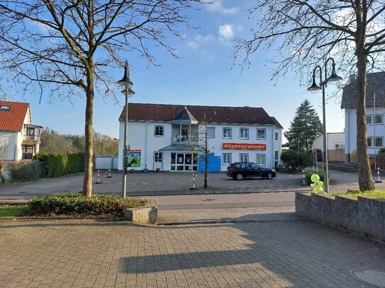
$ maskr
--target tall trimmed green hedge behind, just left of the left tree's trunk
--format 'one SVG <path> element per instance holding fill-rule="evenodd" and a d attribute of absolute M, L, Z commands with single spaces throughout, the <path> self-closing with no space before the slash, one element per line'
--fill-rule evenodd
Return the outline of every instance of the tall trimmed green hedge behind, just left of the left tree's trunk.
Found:
<path fill-rule="evenodd" d="M 84 171 L 84 153 L 38 153 L 35 159 L 45 161 L 46 177 L 53 178 Z"/>

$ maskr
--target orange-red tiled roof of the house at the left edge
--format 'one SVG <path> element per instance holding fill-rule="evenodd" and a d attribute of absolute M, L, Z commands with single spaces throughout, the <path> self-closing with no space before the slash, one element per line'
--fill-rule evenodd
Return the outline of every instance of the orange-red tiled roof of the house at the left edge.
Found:
<path fill-rule="evenodd" d="M 21 131 L 29 104 L 0 101 L 1 106 L 9 106 L 10 110 L 0 110 L 0 131 Z"/>

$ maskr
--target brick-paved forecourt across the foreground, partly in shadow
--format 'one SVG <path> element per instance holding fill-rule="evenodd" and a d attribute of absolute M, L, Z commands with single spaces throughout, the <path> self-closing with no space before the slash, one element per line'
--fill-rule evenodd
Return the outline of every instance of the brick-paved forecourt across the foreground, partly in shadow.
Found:
<path fill-rule="evenodd" d="M 0 243 L 9 288 L 369 288 L 350 272 L 385 269 L 385 246 L 279 211 L 178 226 L 3 220 Z"/>

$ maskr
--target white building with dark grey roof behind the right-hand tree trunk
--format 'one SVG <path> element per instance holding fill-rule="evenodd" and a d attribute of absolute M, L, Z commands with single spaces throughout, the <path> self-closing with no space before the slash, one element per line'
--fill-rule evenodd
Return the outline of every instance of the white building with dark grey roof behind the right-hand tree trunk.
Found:
<path fill-rule="evenodd" d="M 344 87 L 341 108 L 345 109 L 345 162 L 352 162 L 357 150 L 357 92 L 355 77 Z M 384 147 L 385 72 L 367 74 L 367 144 L 373 158 Z"/>

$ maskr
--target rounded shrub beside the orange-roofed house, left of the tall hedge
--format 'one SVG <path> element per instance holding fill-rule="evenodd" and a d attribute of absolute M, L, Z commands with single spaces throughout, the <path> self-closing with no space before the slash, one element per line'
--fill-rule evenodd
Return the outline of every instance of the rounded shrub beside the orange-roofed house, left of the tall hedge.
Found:
<path fill-rule="evenodd" d="M 21 160 L 8 164 L 11 181 L 33 181 L 44 177 L 44 167 L 38 161 Z"/>

